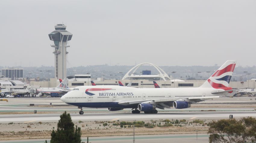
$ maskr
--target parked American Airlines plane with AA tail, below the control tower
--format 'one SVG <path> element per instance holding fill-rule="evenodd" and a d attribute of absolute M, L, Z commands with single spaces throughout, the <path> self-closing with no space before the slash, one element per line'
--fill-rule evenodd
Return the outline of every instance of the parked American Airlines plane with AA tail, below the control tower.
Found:
<path fill-rule="evenodd" d="M 68 78 L 65 78 L 57 87 L 55 88 L 40 88 L 36 89 L 36 93 L 63 93 L 63 92 L 68 92 L 67 90 L 67 80 Z"/>

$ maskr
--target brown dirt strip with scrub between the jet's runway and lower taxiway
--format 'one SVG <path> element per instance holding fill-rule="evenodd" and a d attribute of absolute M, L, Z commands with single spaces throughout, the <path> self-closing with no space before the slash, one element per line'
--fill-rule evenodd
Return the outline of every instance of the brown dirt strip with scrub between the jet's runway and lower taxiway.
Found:
<path fill-rule="evenodd" d="M 201 120 L 201 123 L 192 123 L 193 120 L 186 120 L 186 122 L 183 123 L 172 124 L 172 127 L 164 127 L 164 124 L 167 122 L 160 120 L 145 121 L 145 123 L 154 124 L 155 127 L 135 127 L 135 135 L 186 134 L 196 133 L 196 130 L 198 130 L 198 133 L 207 133 L 207 124 L 209 121 L 210 120 Z M 81 127 L 82 137 L 133 135 L 133 125 L 131 125 L 131 127 L 125 125 L 126 127 L 122 128 L 120 125 L 114 125 L 120 124 L 120 122 L 121 121 L 80 121 L 74 122 L 74 124 Z M 171 122 L 172 120 L 168 123 Z M 104 123 L 107 123 L 107 125 L 103 126 Z M 161 124 L 161 127 L 159 124 Z M 57 130 L 57 122 L 0 124 L 0 129 L 0 140 L 45 139 L 51 138 L 52 130 Z"/>

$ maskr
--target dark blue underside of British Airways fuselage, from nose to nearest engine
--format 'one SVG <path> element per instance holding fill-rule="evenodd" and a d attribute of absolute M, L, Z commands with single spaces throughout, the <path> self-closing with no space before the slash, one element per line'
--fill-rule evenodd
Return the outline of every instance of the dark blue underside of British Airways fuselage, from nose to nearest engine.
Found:
<path fill-rule="evenodd" d="M 138 108 L 138 104 L 119 105 L 118 102 L 86 102 L 86 103 L 67 103 L 73 106 L 89 108 Z"/>

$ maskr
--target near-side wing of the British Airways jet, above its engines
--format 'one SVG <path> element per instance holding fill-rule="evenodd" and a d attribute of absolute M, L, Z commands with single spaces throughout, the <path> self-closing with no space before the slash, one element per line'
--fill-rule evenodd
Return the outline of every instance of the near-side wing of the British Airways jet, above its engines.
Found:
<path fill-rule="evenodd" d="M 164 109 L 170 108 L 174 101 L 186 101 L 189 103 L 197 103 L 205 101 L 212 98 L 219 98 L 220 96 L 208 96 L 208 97 L 187 97 L 187 98 L 163 98 L 163 99 L 152 99 L 152 100 L 139 100 L 139 101 L 120 101 L 120 105 L 130 105 L 130 104 L 154 104 L 157 108 Z"/>

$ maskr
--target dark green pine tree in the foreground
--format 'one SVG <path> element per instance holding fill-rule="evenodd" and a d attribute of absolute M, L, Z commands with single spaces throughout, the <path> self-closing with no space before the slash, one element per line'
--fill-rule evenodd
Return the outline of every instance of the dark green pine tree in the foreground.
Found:
<path fill-rule="evenodd" d="M 76 126 L 71 120 L 70 114 L 65 111 L 61 116 L 57 125 L 57 131 L 52 130 L 51 143 L 80 143 L 81 128 Z"/>

